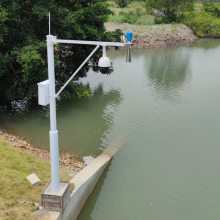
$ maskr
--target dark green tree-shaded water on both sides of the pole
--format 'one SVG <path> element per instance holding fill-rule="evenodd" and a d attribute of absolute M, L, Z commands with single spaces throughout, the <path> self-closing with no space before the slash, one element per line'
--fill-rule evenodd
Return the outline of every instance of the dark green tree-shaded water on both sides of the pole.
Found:
<path fill-rule="evenodd" d="M 84 99 L 68 99 L 58 103 L 57 119 L 61 150 L 78 155 L 98 154 L 101 138 L 111 127 L 109 106 L 117 106 L 119 91 L 104 92 L 102 85 L 94 89 L 93 95 Z M 19 136 L 25 136 L 39 147 L 48 147 L 48 109 L 32 110 L 28 113 L 0 113 L 0 126 Z"/>

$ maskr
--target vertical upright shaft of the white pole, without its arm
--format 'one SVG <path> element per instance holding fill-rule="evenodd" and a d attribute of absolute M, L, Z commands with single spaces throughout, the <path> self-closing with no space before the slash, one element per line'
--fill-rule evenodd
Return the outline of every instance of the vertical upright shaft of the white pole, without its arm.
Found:
<path fill-rule="evenodd" d="M 54 70 L 54 39 L 53 35 L 47 35 L 47 58 L 50 96 L 50 162 L 51 162 L 51 187 L 52 192 L 60 190 L 59 174 L 59 146 L 56 119 L 56 92 L 55 92 L 55 70 Z"/>

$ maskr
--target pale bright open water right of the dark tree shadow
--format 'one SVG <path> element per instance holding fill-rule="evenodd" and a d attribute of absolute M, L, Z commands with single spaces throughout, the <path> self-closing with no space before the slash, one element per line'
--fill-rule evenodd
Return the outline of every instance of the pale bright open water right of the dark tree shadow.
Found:
<path fill-rule="evenodd" d="M 104 87 L 121 88 L 124 143 L 80 220 L 219 219 L 219 49 L 133 51 L 132 65 L 115 55 Z"/>

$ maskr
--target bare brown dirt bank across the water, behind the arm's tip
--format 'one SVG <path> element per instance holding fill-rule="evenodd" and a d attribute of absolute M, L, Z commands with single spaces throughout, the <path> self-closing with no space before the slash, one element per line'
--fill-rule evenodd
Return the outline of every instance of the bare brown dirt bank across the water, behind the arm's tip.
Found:
<path fill-rule="evenodd" d="M 162 24 L 162 25 L 133 25 L 106 23 L 107 31 L 116 29 L 124 33 L 134 33 L 134 48 L 161 48 L 184 45 L 193 42 L 197 37 L 192 30 L 184 24 Z"/>

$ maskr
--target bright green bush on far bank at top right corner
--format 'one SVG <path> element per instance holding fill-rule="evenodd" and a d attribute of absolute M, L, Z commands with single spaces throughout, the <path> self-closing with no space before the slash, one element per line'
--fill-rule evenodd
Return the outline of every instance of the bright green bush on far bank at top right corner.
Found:
<path fill-rule="evenodd" d="M 184 13 L 179 21 L 188 25 L 198 37 L 220 37 L 220 4 L 206 3 L 201 11 Z"/>

